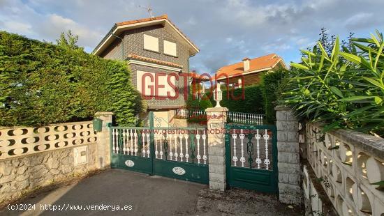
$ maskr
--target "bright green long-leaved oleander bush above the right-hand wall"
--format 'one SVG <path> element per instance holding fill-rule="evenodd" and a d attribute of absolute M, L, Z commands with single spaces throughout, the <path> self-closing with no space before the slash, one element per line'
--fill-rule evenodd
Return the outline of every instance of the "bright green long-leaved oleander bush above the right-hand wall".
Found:
<path fill-rule="evenodd" d="M 384 135 L 383 34 L 351 39 L 352 48 L 336 38 L 331 54 L 318 43 L 291 63 L 283 104 L 298 116 L 327 123 L 325 131 L 348 128 Z"/>

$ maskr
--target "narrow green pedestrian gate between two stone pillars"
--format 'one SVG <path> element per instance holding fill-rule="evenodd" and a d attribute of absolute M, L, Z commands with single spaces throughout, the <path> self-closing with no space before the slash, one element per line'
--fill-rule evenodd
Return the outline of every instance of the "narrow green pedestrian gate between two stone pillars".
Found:
<path fill-rule="evenodd" d="M 230 187 L 277 193 L 276 126 L 227 124 L 226 173 Z"/>

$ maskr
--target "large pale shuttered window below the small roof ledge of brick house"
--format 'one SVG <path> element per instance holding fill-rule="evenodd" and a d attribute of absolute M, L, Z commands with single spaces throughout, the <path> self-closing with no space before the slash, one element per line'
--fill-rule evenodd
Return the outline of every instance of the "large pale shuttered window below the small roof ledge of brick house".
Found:
<path fill-rule="evenodd" d="M 142 80 L 144 75 L 144 80 Z M 170 97 L 175 97 L 175 89 L 172 88 L 170 84 L 168 84 L 168 77 L 170 77 L 170 83 L 176 86 L 175 76 L 166 75 L 165 73 L 154 73 L 137 70 L 136 86 L 138 91 L 140 91 L 140 93 L 145 96 L 167 97 L 167 94 L 169 93 Z"/>

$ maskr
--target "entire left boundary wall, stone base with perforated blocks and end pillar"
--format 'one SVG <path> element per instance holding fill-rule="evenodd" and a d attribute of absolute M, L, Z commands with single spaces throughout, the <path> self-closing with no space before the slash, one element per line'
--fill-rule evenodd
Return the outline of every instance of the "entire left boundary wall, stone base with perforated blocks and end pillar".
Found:
<path fill-rule="evenodd" d="M 91 121 L 42 128 L 0 129 L 0 206 L 40 187 L 82 178 L 110 167 L 112 113 L 101 112 L 102 131 Z"/>

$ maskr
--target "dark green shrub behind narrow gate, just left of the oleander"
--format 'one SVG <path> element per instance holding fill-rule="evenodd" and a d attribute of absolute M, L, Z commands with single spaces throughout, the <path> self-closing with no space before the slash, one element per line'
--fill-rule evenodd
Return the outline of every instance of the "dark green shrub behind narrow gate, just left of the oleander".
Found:
<path fill-rule="evenodd" d="M 281 95 L 281 89 L 283 79 L 288 74 L 288 70 L 279 68 L 277 70 L 270 70 L 263 75 L 263 94 L 265 98 L 265 118 L 268 123 L 274 123 L 276 121 L 276 102 L 279 100 Z"/>

